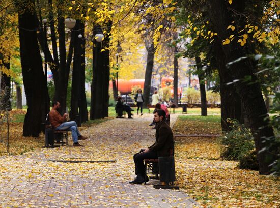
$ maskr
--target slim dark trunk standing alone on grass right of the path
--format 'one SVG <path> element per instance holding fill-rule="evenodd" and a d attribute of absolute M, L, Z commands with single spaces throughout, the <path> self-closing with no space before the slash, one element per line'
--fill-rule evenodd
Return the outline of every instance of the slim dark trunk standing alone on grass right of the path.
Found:
<path fill-rule="evenodd" d="M 207 116 L 207 100 L 206 100 L 206 90 L 204 83 L 204 72 L 202 70 L 202 63 L 200 57 L 195 57 L 195 63 L 197 64 L 197 69 L 199 73 L 199 83 L 200 83 L 200 103 L 201 103 L 201 115 Z"/>

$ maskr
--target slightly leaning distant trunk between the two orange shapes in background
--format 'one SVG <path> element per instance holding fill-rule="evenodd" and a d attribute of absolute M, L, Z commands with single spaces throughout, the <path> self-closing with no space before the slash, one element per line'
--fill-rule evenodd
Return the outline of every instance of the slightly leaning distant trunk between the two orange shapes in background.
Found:
<path fill-rule="evenodd" d="M 145 71 L 145 81 L 144 81 L 144 104 L 143 107 L 147 108 L 150 100 L 150 91 L 151 91 L 151 80 L 152 80 L 152 73 L 153 73 L 153 66 L 154 66 L 154 56 L 155 56 L 155 47 L 153 41 L 149 44 L 148 41 L 145 43 L 147 54 L 147 65 Z"/>

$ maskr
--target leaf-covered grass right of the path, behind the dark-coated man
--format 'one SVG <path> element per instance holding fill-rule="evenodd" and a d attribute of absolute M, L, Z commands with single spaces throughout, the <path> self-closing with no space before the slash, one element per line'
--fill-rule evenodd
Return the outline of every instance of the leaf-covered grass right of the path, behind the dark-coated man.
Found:
<path fill-rule="evenodd" d="M 181 116 L 177 134 L 220 134 L 219 116 Z M 217 138 L 176 140 L 176 175 L 180 186 L 203 207 L 280 207 L 280 181 L 222 161 Z"/>

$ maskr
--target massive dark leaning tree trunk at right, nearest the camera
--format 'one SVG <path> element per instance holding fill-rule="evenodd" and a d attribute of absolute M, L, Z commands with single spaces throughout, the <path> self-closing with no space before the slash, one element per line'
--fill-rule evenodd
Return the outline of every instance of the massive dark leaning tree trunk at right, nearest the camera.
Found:
<path fill-rule="evenodd" d="M 241 0 L 233 1 L 231 5 L 223 0 L 208 1 L 210 20 L 213 23 L 213 31 L 218 34 L 218 41 L 220 44 L 222 44 L 222 40 L 225 40 L 230 36 L 227 27 L 231 25 L 233 21 L 238 23 L 238 25 L 235 24 L 238 31 L 244 29 L 246 24 L 244 17 L 241 15 L 237 16 L 232 11 L 234 10 L 242 14 L 245 9 L 245 4 L 246 2 Z M 237 43 L 237 39 L 234 39 L 228 45 L 222 46 L 222 51 L 225 53 L 226 63 L 235 61 L 240 57 L 246 56 L 246 54 L 254 54 L 254 51 L 246 51 L 246 49 L 246 46 L 241 47 L 240 44 Z M 235 83 L 236 90 L 239 93 L 242 105 L 248 114 L 250 129 L 254 136 L 255 146 L 258 153 L 259 173 L 269 174 L 269 165 L 274 160 L 274 155 L 266 150 L 265 138 L 274 137 L 274 132 L 272 127 L 269 126 L 269 116 L 267 114 L 260 85 L 254 74 L 254 67 L 256 66 L 253 66 L 250 61 L 241 60 L 230 65 L 229 71 L 232 80 L 239 80 Z M 251 77 L 250 83 L 244 81 L 247 76 Z M 276 148 L 277 147 L 275 147 L 275 150 Z M 271 151 L 274 151 L 273 148 Z"/>

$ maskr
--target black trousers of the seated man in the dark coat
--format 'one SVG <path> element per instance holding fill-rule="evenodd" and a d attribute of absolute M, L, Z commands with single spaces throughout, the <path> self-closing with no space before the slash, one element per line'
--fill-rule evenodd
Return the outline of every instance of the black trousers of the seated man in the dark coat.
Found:
<path fill-rule="evenodd" d="M 145 175 L 145 165 L 144 165 L 144 160 L 145 159 L 157 159 L 157 153 L 153 151 L 148 151 L 143 153 L 140 151 L 140 153 L 136 153 L 133 156 L 133 160 L 135 163 L 135 174 L 141 174 L 143 177 Z"/>

